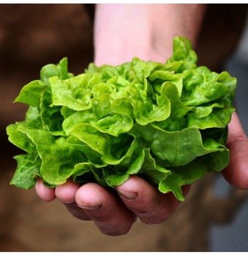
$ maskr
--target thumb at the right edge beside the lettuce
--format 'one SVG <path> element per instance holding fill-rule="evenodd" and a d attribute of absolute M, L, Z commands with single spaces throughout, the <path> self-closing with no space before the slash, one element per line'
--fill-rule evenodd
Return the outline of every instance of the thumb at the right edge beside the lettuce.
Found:
<path fill-rule="evenodd" d="M 230 150 L 230 161 L 223 175 L 237 188 L 248 189 L 248 138 L 237 113 L 233 114 L 229 124 L 227 147 Z"/>

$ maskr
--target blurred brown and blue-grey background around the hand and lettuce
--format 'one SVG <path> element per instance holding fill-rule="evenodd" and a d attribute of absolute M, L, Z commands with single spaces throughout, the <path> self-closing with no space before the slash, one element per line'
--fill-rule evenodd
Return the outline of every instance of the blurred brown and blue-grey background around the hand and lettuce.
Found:
<path fill-rule="evenodd" d="M 139 221 L 121 237 L 102 235 L 57 200 L 8 185 L 20 152 L 6 137 L 26 106 L 12 104 L 42 66 L 68 57 L 82 73 L 93 61 L 93 4 L 0 4 L 0 252 L 245 252 L 248 199 L 219 174 L 196 182 L 172 217 L 159 225 Z M 237 77 L 236 106 L 248 132 L 247 4 L 209 4 L 196 48 L 199 65 Z"/>

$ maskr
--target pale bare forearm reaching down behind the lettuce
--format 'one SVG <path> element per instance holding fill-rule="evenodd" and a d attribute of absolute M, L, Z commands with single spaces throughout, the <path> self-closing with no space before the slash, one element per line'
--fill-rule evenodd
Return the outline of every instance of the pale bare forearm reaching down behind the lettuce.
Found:
<path fill-rule="evenodd" d="M 204 4 L 98 4 L 95 63 L 117 65 L 134 56 L 164 62 L 173 37 L 196 42 L 204 9 Z"/>

